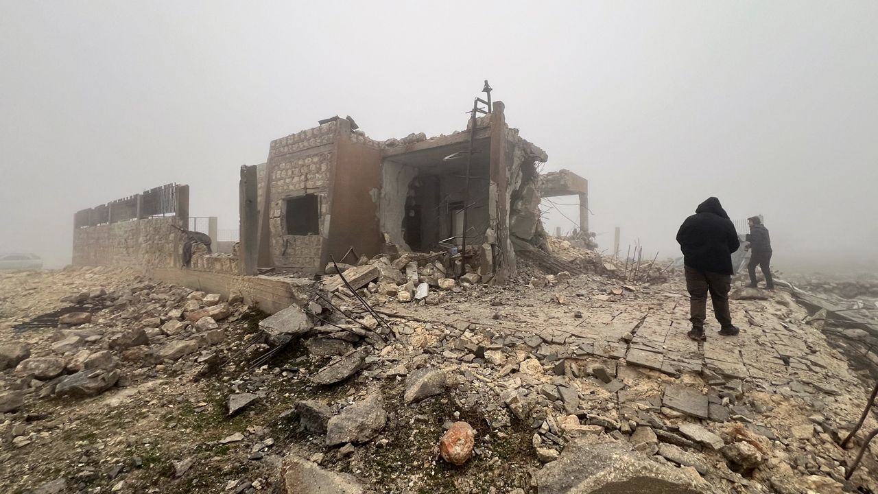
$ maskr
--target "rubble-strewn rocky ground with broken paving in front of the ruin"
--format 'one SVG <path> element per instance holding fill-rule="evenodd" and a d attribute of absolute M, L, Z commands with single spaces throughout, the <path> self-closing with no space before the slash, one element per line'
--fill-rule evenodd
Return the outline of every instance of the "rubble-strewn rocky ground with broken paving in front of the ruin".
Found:
<path fill-rule="evenodd" d="M 0 275 L 4 491 L 878 490 L 878 445 L 845 481 L 874 414 L 838 446 L 869 369 L 787 292 L 738 288 L 740 335 L 697 344 L 673 276 L 357 267 L 374 314 L 331 277 L 267 317 L 119 269 Z"/>

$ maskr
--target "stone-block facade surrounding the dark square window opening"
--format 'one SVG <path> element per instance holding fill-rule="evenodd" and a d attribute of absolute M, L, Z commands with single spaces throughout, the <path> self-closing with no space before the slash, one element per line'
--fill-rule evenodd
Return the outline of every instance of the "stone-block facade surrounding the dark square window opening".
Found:
<path fill-rule="evenodd" d="M 271 142 L 269 228 L 275 265 L 318 272 L 328 235 L 329 182 L 335 165 L 335 121 Z M 286 234 L 284 200 L 316 194 L 320 200 L 320 235 Z"/>

